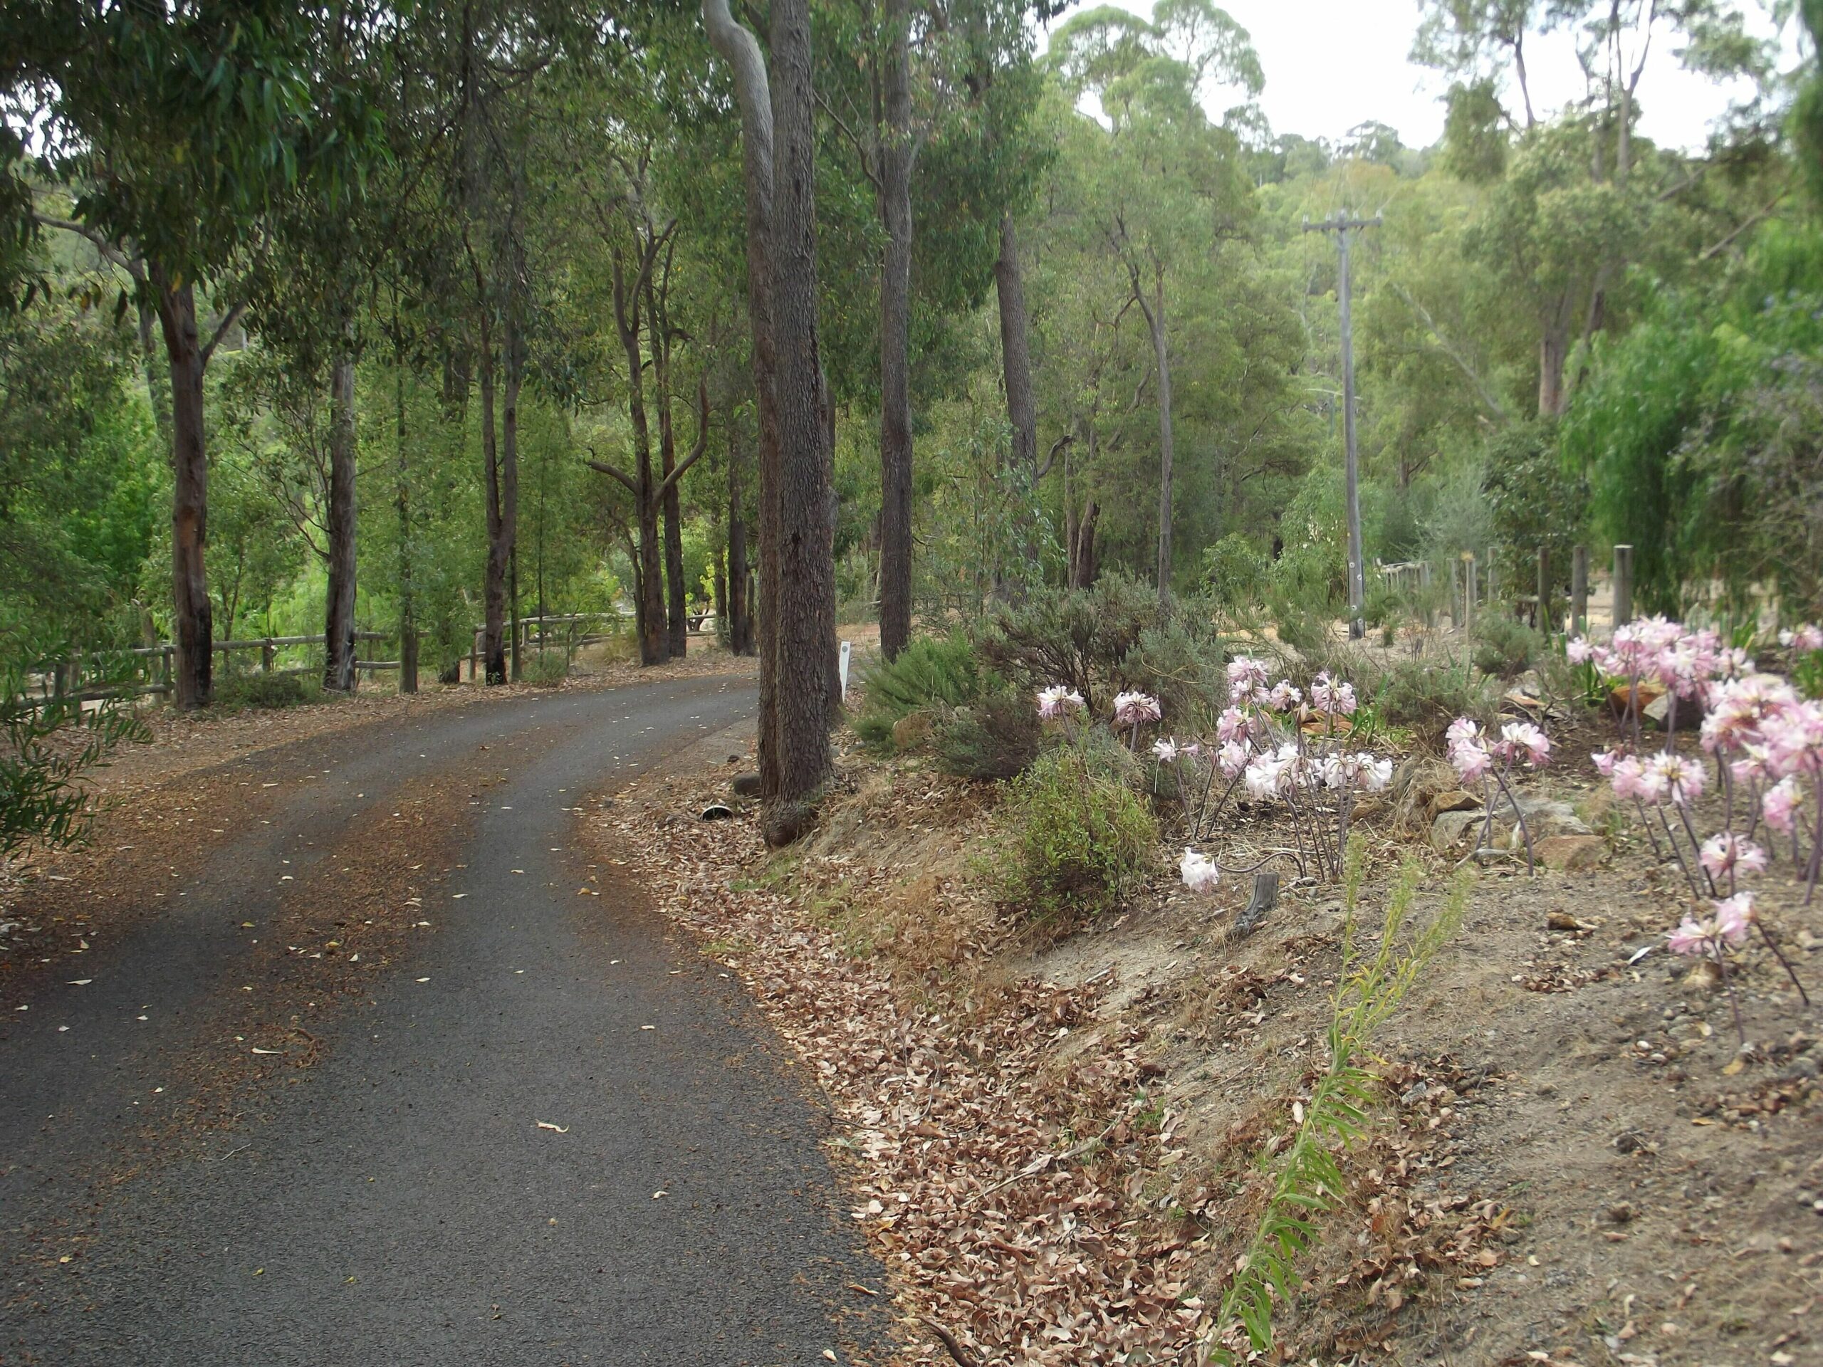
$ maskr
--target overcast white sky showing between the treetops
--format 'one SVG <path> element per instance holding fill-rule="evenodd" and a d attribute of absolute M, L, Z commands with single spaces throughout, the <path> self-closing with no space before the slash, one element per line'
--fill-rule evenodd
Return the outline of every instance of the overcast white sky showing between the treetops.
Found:
<path fill-rule="evenodd" d="M 1072 7 L 1092 7 L 1087 0 Z M 1150 15 L 1150 0 L 1114 0 Z M 1438 97 L 1449 82 L 1438 71 L 1407 60 L 1418 27 L 1416 0 L 1218 0 L 1245 27 L 1265 67 L 1260 104 L 1274 133 L 1340 139 L 1360 122 L 1376 118 L 1398 129 L 1407 148 L 1426 148 L 1444 131 Z M 1772 26 L 1757 4 L 1748 5 L 1757 33 Z M 1068 15 L 1066 15 L 1068 16 Z M 1065 16 L 1065 18 L 1066 18 Z M 1056 20 L 1061 24 L 1063 20 Z M 1570 35 L 1528 40 L 1526 69 L 1531 98 L 1542 117 L 1582 95 Z M 1730 91 L 1694 77 L 1677 64 L 1674 44 L 1661 31 L 1641 82 L 1641 129 L 1661 146 L 1701 148 L 1708 126 L 1726 111 Z M 1220 109 L 1212 111 L 1220 117 Z"/>

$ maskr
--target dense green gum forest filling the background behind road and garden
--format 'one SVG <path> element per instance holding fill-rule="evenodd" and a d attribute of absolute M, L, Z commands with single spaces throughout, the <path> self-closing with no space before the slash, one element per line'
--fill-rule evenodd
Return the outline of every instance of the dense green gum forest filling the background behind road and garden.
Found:
<path fill-rule="evenodd" d="M 835 611 L 888 649 L 1101 567 L 1327 614 L 1336 253 L 1302 226 L 1336 210 L 1378 217 L 1369 560 L 1613 540 L 1653 607 L 1816 601 L 1816 98 L 1735 7 L 1433 0 L 1431 148 L 1274 133 L 1200 0 L 809 24 Z M 1586 100 L 1531 106 L 1544 29 Z M 767 443 L 700 15 L 16 4 L 7 35 L 9 660 L 175 640 L 195 705 L 211 636 L 326 631 L 330 687 L 354 625 L 443 673 L 485 625 L 494 676 L 541 612 L 633 607 L 658 660 L 713 605 L 746 645 Z M 1706 149 L 1637 131 L 1650 44 L 1756 82 Z"/>

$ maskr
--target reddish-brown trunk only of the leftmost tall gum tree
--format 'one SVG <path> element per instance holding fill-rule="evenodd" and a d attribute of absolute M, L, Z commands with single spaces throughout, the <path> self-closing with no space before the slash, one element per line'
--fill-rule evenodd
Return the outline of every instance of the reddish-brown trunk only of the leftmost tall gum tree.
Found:
<path fill-rule="evenodd" d="M 151 268 L 159 328 L 171 368 L 171 616 L 177 636 L 171 700 L 208 707 L 213 682 L 213 607 L 202 549 L 208 543 L 210 463 L 202 439 L 202 343 L 197 295 Z"/>

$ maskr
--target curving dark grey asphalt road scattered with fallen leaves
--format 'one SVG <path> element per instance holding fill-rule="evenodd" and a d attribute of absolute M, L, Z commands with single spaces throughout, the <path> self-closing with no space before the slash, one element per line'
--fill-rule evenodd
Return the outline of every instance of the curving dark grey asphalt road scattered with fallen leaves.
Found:
<path fill-rule="evenodd" d="M 0 1362 L 866 1360 L 853 1285 L 881 1290 L 881 1269 L 840 1216 L 826 1121 L 716 964 L 613 884 L 576 895 L 578 795 L 751 707 L 746 680 L 678 680 L 252 760 L 297 789 L 270 826 L 180 871 L 182 899 L 86 955 L 89 982 L 60 964 L 29 1012 L 7 1002 Z M 253 1119 L 144 1152 L 153 1086 L 210 1046 L 213 1004 L 252 971 L 281 860 L 308 880 L 355 813 L 459 780 L 481 747 L 505 782 L 478 789 L 467 848 L 425 891 L 436 931 Z"/>

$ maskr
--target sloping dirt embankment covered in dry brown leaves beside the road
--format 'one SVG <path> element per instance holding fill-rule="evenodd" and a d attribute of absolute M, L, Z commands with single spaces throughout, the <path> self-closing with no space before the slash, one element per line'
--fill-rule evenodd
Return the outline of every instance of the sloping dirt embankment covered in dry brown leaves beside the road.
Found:
<path fill-rule="evenodd" d="M 1293 886 L 1231 944 L 1243 888 L 1159 879 L 1045 940 L 981 893 L 992 789 L 850 756 L 820 833 L 767 855 L 747 815 L 696 818 L 731 773 L 642 780 L 598 837 L 636 851 L 848 1126 L 904 1362 L 1198 1362 L 1327 1063 L 1338 891 Z M 1548 795 L 1601 806 L 1573 775 Z M 1400 860 L 1424 869 L 1418 917 L 1453 860 L 1391 809 L 1365 829 L 1371 940 Z M 1819 1360 L 1818 1013 L 1750 948 L 1737 1057 L 1726 995 L 1664 953 L 1672 875 L 1604 829 L 1595 868 L 1486 869 L 1382 1030 L 1369 1137 L 1276 1309 L 1283 1358 Z M 1781 879 L 1763 908 L 1823 999 L 1823 906 Z"/>

